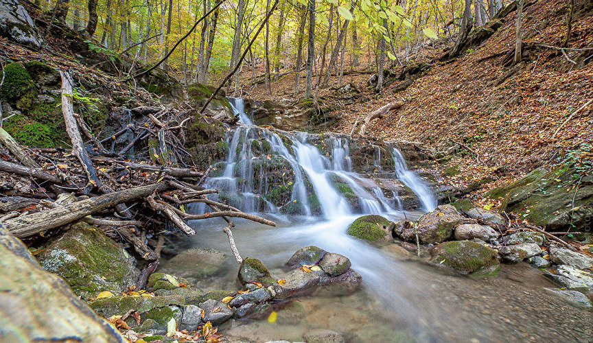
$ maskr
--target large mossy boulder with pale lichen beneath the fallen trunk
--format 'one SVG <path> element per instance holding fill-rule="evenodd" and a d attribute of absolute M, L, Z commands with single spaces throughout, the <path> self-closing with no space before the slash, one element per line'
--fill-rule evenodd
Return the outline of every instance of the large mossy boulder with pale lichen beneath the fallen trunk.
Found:
<path fill-rule="evenodd" d="M 75 224 L 39 255 L 41 267 L 62 276 L 83 299 L 135 285 L 135 259 L 100 228 Z"/>

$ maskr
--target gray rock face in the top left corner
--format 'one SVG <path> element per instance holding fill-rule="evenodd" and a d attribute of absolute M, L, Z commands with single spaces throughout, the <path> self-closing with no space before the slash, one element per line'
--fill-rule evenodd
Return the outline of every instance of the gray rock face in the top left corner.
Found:
<path fill-rule="evenodd" d="M 41 47 L 35 23 L 27 10 L 16 0 L 0 1 L 0 36 L 33 49 Z"/>

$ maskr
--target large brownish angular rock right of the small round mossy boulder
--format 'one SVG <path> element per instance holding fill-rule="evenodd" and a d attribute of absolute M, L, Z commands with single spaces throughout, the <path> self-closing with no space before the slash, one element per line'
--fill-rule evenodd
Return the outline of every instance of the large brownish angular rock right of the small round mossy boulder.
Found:
<path fill-rule="evenodd" d="M 437 244 L 449 239 L 454 228 L 461 224 L 463 224 L 463 218 L 454 206 L 441 205 L 420 217 L 415 226 L 404 228 L 401 236 L 406 241 L 415 242 L 417 232 L 420 243 Z"/>

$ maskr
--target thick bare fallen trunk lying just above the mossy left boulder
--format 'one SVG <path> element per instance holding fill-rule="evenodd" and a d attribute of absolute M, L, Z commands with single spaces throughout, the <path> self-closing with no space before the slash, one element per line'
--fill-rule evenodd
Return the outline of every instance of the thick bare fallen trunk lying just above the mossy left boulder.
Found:
<path fill-rule="evenodd" d="M 66 206 L 60 206 L 56 209 L 22 215 L 21 217 L 7 220 L 4 222 L 4 227 L 10 230 L 10 233 L 15 237 L 30 237 L 41 231 L 70 224 L 71 222 L 81 220 L 87 215 L 92 215 L 126 201 L 144 198 L 154 191 L 162 191 L 164 189 L 167 189 L 167 185 L 157 183 L 116 191 L 103 196 L 74 202 Z"/>

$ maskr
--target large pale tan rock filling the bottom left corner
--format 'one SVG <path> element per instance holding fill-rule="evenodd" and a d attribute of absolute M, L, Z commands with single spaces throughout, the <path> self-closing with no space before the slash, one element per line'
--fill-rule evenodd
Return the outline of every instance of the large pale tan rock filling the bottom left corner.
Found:
<path fill-rule="evenodd" d="M 0 270 L 2 342 L 126 342 L 2 226 Z"/>

